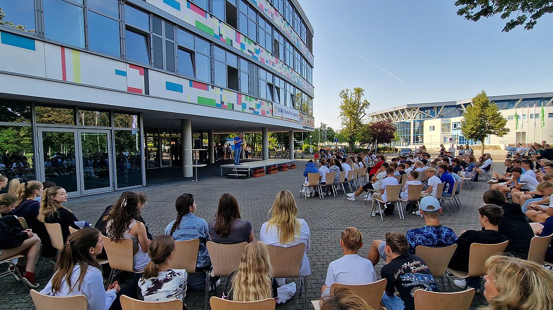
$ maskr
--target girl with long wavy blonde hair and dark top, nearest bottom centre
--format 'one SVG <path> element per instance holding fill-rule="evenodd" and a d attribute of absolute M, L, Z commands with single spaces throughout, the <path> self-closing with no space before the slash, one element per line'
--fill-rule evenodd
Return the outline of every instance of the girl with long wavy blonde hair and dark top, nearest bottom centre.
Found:
<path fill-rule="evenodd" d="M 227 278 L 223 298 L 234 301 L 277 298 L 278 283 L 271 273 L 267 246 L 261 241 L 249 243 L 242 253 L 238 270 Z"/>

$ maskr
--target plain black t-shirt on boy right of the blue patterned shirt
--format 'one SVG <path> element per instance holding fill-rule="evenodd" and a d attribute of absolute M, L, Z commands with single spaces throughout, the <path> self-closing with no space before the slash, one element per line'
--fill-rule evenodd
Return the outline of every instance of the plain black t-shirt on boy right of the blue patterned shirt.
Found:
<path fill-rule="evenodd" d="M 468 271 L 468 257 L 471 251 L 471 244 L 496 244 L 507 240 L 509 239 L 497 230 L 467 230 L 455 241 L 457 250 L 447 266 L 455 270 Z"/>

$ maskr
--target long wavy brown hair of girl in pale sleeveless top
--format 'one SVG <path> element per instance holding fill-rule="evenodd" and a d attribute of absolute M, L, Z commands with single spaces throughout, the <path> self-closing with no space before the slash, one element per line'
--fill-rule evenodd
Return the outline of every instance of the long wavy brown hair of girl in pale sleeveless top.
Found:
<path fill-rule="evenodd" d="M 123 236 L 129 229 L 132 220 L 140 218 L 138 208 L 138 194 L 135 192 L 123 192 L 117 202 L 113 204 L 109 214 L 103 218 L 106 222 L 106 234 L 112 241 L 118 242 L 125 239 Z"/>

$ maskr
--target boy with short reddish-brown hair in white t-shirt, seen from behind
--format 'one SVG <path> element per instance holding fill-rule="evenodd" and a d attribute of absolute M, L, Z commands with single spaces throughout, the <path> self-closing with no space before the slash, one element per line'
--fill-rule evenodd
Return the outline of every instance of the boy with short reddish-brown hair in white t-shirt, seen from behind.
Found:
<path fill-rule="evenodd" d="M 325 285 L 321 288 L 321 297 L 330 295 L 332 283 L 358 285 L 377 281 L 373 263 L 357 255 L 363 246 L 363 235 L 359 229 L 348 227 L 343 230 L 340 246 L 344 256 L 328 265 Z"/>

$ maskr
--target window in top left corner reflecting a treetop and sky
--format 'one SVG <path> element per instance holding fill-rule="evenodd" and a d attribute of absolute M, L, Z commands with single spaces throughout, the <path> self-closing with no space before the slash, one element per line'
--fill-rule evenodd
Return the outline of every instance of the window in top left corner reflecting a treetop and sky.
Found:
<path fill-rule="evenodd" d="M 2 1 L 3 25 L 36 33 L 34 0 Z"/>

